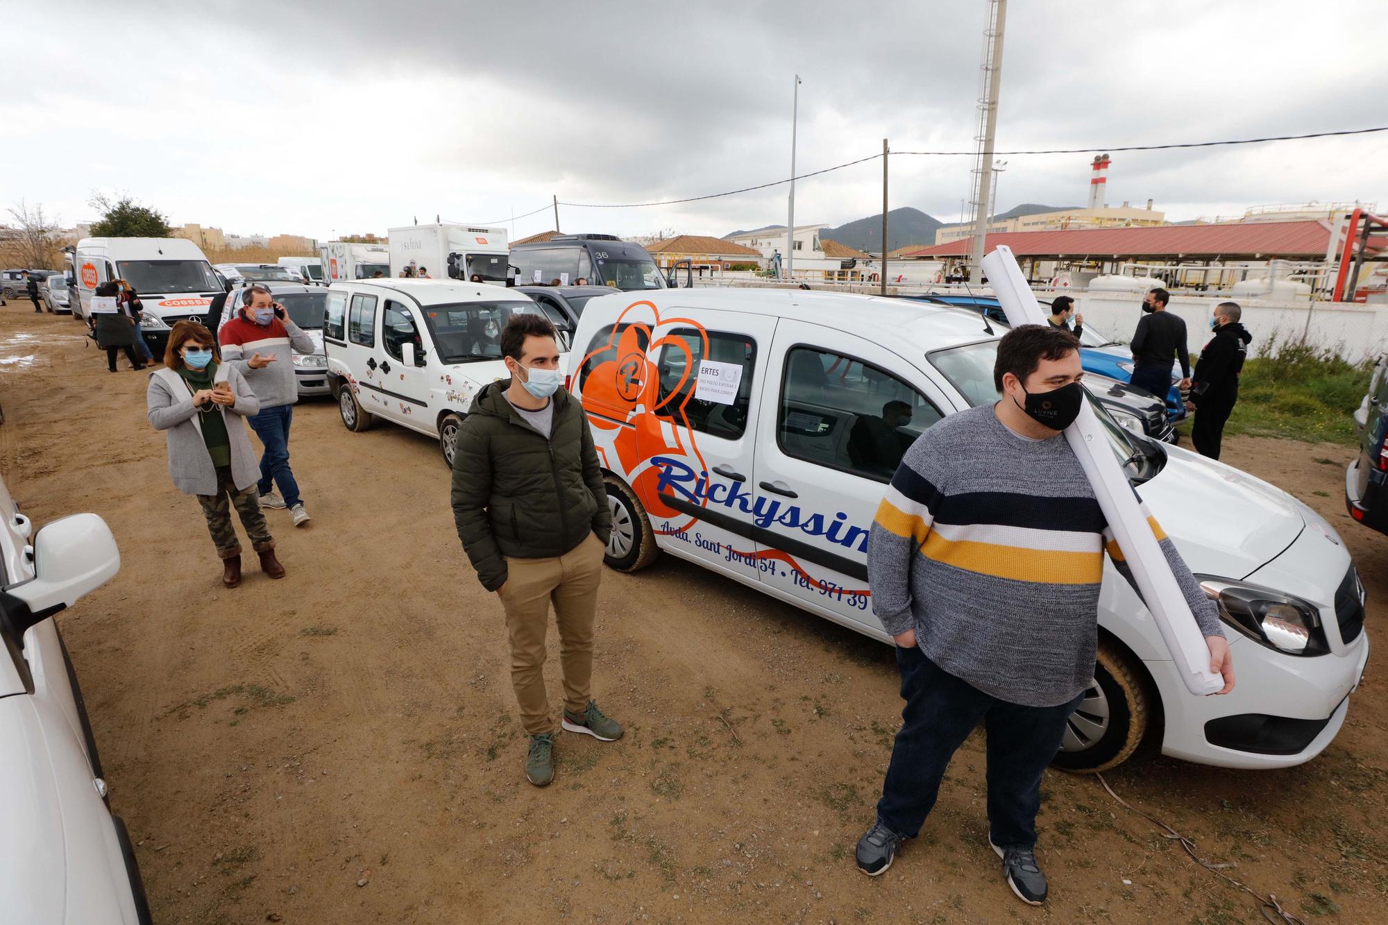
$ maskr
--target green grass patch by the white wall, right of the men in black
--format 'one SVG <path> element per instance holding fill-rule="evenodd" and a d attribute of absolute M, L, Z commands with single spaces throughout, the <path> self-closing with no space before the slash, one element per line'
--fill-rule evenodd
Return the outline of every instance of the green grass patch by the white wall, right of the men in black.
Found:
<path fill-rule="evenodd" d="M 1238 404 L 1224 433 L 1353 446 L 1359 440 L 1353 412 L 1369 390 L 1371 369 L 1371 361 L 1355 365 L 1332 350 L 1273 338 L 1244 364 Z"/>

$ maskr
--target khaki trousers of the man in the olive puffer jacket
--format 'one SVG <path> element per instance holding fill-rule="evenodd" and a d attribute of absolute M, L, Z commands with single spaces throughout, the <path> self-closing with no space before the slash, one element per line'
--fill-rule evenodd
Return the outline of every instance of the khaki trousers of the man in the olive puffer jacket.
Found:
<path fill-rule="evenodd" d="M 583 712 L 591 700 L 593 621 L 604 550 L 602 540 L 590 533 L 558 558 L 507 557 L 501 604 L 511 638 L 511 686 L 520 704 L 520 725 L 532 736 L 555 728 L 544 690 L 544 636 L 551 603 L 559 628 L 564 706 L 570 712 Z"/>

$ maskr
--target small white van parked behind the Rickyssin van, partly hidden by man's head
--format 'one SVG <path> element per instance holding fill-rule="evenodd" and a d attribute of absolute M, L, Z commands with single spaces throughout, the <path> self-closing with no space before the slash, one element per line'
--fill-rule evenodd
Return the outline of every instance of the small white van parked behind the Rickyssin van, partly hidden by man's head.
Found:
<path fill-rule="evenodd" d="M 323 349 L 343 424 L 359 432 L 379 417 L 437 436 L 451 467 L 473 396 L 509 375 L 501 329 L 514 314 L 550 317 L 522 293 L 479 283 L 333 283 Z"/>

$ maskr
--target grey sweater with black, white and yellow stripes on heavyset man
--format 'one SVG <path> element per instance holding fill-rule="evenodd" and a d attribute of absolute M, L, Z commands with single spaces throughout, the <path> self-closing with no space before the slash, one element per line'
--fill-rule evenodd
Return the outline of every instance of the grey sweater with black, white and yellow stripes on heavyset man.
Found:
<path fill-rule="evenodd" d="M 1202 632 L 1221 635 L 1213 601 L 1144 512 Z M 867 546 L 873 611 L 984 693 L 1058 706 L 1094 676 L 1105 550 L 1131 581 L 1065 436 L 1033 440 L 992 406 L 969 408 L 927 429 L 891 479 Z"/>

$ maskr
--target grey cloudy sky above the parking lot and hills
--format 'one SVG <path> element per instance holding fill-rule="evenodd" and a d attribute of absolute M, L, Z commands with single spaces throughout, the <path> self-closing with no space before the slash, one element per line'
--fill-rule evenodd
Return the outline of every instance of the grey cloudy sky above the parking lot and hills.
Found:
<path fill-rule="evenodd" d="M 644 203 L 881 150 L 972 150 L 985 4 L 278 0 L 6 4 L 0 207 L 71 225 L 93 192 L 174 224 L 330 238 L 415 217 L 494 222 Z M 1013 0 L 998 149 L 1388 125 L 1385 4 Z M 1083 204 L 1087 154 L 1013 156 L 1001 208 Z M 1388 207 L 1388 133 L 1122 153 L 1110 204 L 1169 219 L 1249 206 Z M 969 157 L 891 161 L 891 206 L 958 218 Z M 881 162 L 797 183 L 797 224 L 881 203 Z M 565 231 L 725 235 L 786 221 L 786 188 L 683 206 L 561 206 Z M 516 218 L 516 236 L 552 228 Z"/>

